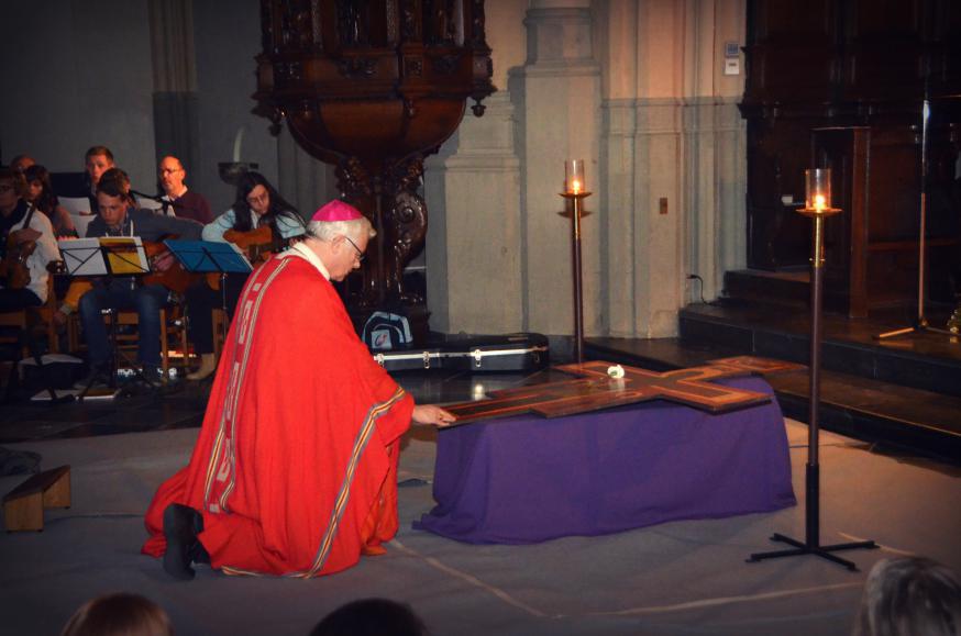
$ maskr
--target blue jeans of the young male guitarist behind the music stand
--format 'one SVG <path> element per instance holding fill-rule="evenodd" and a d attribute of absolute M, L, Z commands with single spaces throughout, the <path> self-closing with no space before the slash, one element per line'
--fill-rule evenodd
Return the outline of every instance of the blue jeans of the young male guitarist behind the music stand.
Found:
<path fill-rule="evenodd" d="M 97 284 L 80 299 L 80 322 L 90 350 L 90 365 L 102 367 L 112 354 L 104 309 L 136 311 L 137 359 L 144 367 L 161 365 L 161 310 L 167 304 L 169 293 L 159 284 L 131 287 L 130 279 L 114 279 L 109 284 Z"/>

